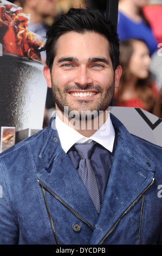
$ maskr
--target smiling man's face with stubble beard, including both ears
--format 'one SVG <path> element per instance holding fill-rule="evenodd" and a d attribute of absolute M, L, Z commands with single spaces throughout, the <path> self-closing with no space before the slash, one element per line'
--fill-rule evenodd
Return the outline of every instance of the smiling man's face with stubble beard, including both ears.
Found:
<path fill-rule="evenodd" d="M 105 111 L 111 103 L 114 86 L 118 86 L 119 66 L 114 74 L 105 36 L 86 32 L 68 32 L 56 43 L 51 70 L 45 66 L 48 86 L 53 88 L 56 109 L 70 111 Z"/>

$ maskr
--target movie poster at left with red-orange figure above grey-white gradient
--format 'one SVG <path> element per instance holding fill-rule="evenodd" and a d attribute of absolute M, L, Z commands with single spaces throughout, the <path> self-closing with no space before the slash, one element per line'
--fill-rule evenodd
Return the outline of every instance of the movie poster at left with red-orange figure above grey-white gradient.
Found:
<path fill-rule="evenodd" d="M 45 42 L 28 31 L 29 21 L 21 7 L 0 0 L 0 127 L 16 132 L 42 129 L 47 94 L 41 62 Z"/>

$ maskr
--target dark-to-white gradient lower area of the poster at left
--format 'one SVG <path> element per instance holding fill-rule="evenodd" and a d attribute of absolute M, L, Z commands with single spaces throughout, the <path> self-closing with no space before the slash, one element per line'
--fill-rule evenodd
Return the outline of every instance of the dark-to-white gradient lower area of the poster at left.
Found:
<path fill-rule="evenodd" d="M 47 84 L 43 63 L 3 53 L 0 57 L 0 127 L 42 129 Z"/>

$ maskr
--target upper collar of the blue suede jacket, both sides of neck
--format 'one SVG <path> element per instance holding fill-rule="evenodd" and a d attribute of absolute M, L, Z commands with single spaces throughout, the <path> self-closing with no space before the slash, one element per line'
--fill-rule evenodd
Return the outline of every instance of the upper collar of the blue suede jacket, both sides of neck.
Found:
<path fill-rule="evenodd" d="M 46 143 L 44 144 L 40 158 L 44 161 L 46 168 L 49 167 L 51 161 L 54 160 L 60 154 L 60 139 L 55 127 L 55 118 L 56 113 L 54 113 L 53 118 L 50 119 L 48 125 L 48 137 Z M 118 135 L 118 140 L 122 147 L 125 150 L 125 154 L 129 155 L 132 158 L 132 161 L 135 162 L 139 167 L 146 170 L 154 170 L 154 164 L 151 159 L 148 159 L 147 155 L 142 151 L 139 146 L 139 141 L 128 132 L 126 127 L 111 113 L 111 120 L 115 129 L 115 135 Z M 147 166 L 147 162 L 150 162 L 151 167 Z"/>

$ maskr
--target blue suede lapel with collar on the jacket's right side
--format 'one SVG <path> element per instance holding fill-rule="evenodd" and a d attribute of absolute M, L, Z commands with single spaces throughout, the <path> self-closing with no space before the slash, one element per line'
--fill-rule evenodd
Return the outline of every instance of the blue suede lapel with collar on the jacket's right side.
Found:
<path fill-rule="evenodd" d="M 98 244 L 103 239 L 154 176 L 153 163 L 147 159 L 134 137 L 113 115 L 111 120 L 118 139 L 101 212 L 92 235 L 92 244 Z M 151 167 L 147 166 L 148 162 Z"/>

